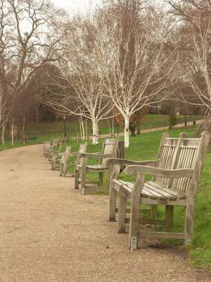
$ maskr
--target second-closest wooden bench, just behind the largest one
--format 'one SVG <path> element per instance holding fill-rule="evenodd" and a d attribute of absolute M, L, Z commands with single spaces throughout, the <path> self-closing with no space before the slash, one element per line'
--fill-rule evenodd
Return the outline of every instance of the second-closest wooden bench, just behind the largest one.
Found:
<path fill-rule="evenodd" d="M 109 167 L 106 165 L 106 159 L 117 157 L 118 144 L 118 139 L 106 139 L 103 143 L 102 152 L 78 154 L 77 157 L 80 160 L 77 161 L 75 166 L 75 189 L 78 189 L 79 183 L 81 183 L 82 194 L 85 194 L 86 188 L 88 188 L 86 184 L 89 183 L 89 181 L 86 181 L 86 174 L 88 172 L 99 173 L 99 181 L 95 184 L 98 184 L 98 186 L 103 186 L 103 173 L 109 173 Z M 101 160 L 101 164 L 95 164 L 91 166 L 87 165 L 88 158 Z M 80 182 L 79 177 L 81 177 Z"/>

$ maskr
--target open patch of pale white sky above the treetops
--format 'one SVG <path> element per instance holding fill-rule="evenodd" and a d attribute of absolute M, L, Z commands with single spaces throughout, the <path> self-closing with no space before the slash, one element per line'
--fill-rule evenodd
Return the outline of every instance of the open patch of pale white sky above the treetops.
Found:
<path fill-rule="evenodd" d="M 71 13 L 72 11 L 87 11 L 90 4 L 94 6 L 101 0 L 51 0 L 56 6 L 65 8 Z"/>

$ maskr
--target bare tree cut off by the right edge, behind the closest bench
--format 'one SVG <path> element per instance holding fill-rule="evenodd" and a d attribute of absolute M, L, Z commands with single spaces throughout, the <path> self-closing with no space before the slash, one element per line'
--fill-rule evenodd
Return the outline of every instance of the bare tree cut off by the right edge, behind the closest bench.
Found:
<path fill-rule="evenodd" d="M 203 107 L 205 118 L 198 132 L 211 130 L 210 1 L 181 1 L 180 5 L 175 1 L 168 3 L 181 19 L 181 25 L 177 27 L 180 54 L 177 75 L 180 81 L 174 99 Z"/>

